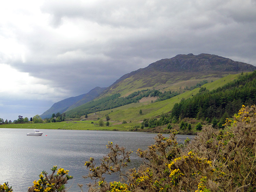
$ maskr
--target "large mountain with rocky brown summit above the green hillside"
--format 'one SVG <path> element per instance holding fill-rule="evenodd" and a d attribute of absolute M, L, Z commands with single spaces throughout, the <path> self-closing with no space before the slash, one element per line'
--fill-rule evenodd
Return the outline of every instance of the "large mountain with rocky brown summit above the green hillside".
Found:
<path fill-rule="evenodd" d="M 101 97 L 120 93 L 127 95 L 142 88 L 161 91 L 177 90 L 180 87 L 197 84 L 200 80 L 216 80 L 227 74 L 254 71 L 256 67 L 217 55 L 177 55 L 161 59 L 120 77 L 108 87 Z"/>

